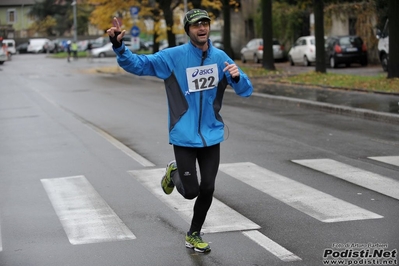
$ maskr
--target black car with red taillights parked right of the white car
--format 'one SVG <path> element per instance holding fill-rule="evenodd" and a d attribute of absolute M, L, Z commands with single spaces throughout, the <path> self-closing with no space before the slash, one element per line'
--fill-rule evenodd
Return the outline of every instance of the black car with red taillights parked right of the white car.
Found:
<path fill-rule="evenodd" d="M 345 64 L 347 67 L 357 63 L 368 64 L 367 47 L 362 38 L 356 35 L 331 36 L 325 42 L 326 63 L 335 68 Z"/>

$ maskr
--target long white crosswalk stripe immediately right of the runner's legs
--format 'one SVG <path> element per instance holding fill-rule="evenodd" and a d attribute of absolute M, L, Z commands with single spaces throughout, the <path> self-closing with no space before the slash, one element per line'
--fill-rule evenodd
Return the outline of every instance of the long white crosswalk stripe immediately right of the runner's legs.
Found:
<path fill-rule="evenodd" d="M 383 217 L 253 163 L 221 164 L 219 169 L 322 222 Z"/>

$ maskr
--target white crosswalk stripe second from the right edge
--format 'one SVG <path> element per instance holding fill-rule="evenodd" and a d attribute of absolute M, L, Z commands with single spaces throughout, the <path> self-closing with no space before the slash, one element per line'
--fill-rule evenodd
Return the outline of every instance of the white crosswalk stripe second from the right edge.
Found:
<path fill-rule="evenodd" d="M 392 178 L 331 159 L 293 160 L 293 162 L 399 199 L 399 182 Z"/>

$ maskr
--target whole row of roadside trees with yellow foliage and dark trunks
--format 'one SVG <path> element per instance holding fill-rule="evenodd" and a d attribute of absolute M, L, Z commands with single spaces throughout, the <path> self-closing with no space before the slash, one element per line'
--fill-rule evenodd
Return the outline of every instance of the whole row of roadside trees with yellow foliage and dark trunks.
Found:
<path fill-rule="evenodd" d="M 72 28 L 72 8 L 73 0 L 66 0 L 65 5 L 57 4 L 57 0 L 44 0 L 34 5 L 31 11 L 32 17 L 37 18 L 34 26 L 37 31 L 46 30 L 48 35 L 60 34 Z M 261 29 L 264 39 L 263 67 L 273 70 L 274 59 L 272 52 L 273 37 L 273 5 L 285 4 L 296 6 L 300 10 L 314 12 L 315 15 L 315 37 L 316 37 L 316 71 L 325 73 L 326 64 L 324 59 L 324 18 L 325 6 L 338 5 L 345 3 L 368 2 L 375 5 L 378 15 L 378 25 L 382 25 L 389 17 L 390 23 L 390 63 L 388 66 L 388 77 L 399 77 L 399 50 L 393 49 L 393 45 L 398 43 L 398 36 L 394 28 L 399 26 L 399 17 L 395 13 L 399 11 L 398 0 L 260 0 Z M 122 19 L 126 29 L 132 26 L 130 19 L 130 8 L 140 7 L 140 18 L 151 18 L 154 21 L 154 29 L 151 32 L 154 41 L 154 51 L 158 50 L 158 43 L 161 39 L 168 40 L 169 46 L 176 45 L 175 35 L 182 32 L 180 20 L 174 17 L 177 10 L 184 10 L 183 0 L 78 0 L 78 34 L 85 34 L 89 22 L 96 25 L 99 29 L 109 28 L 112 17 L 117 16 Z M 230 13 L 232 10 L 239 10 L 241 4 L 239 0 L 191 0 L 188 2 L 188 9 L 204 8 L 208 10 L 214 18 L 222 16 L 224 19 L 223 42 L 227 54 L 232 55 L 230 38 Z M 128 18 L 128 19 L 127 19 Z M 166 23 L 166 36 L 161 31 L 161 21 Z M 274 20 L 276 22 L 276 20 Z M 144 29 L 143 20 L 139 27 Z M 295 21 L 293 22 L 295 23 Z M 180 32 L 179 32 L 180 30 Z M 392 47 L 392 48 L 391 48 Z"/>

